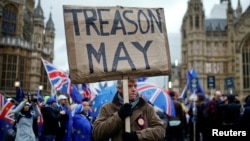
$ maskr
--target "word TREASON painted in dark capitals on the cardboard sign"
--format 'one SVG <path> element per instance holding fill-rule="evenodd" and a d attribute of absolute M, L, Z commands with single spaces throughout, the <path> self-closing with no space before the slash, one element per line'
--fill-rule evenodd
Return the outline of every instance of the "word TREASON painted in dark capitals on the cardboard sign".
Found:
<path fill-rule="evenodd" d="M 141 34 L 162 33 L 162 22 L 159 9 L 146 10 L 116 10 L 111 12 L 110 9 L 64 9 L 65 13 L 72 13 L 74 32 L 76 36 L 91 35 L 91 31 L 96 32 L 99 36 L 115 35 L 121 30 L 123 35 L 134 35 L 138 31 Z M 105 16 L 104 16 L 105 15 Z M 85 24 L 79 24 L 79 16 L 83 16 Z M 110 17 L 113 16 L 113 17 Z M 108 17 L 108 19 L 104 19 Z M 81 18 L 82 19 L 82 18 Z M 110 20 L 113 21 L 110 21 Z M 110 23 L 112 22 L 112 23 Z M 111 24 L 111 25 L 110 25 Z M 86 33 L 81 33 L 81 26 L 86 26 Z M 156 25 L 156 26 L 155 26 Z M 105 28 L 106 27 L 106 28 Z M 107 29 L 110 27 L 111 29 Z M 127 29 L 126 27 L 130 27 Z M 93 29 L 93 30 L 91 30 Z M 106 31 L 105 31 L 106 30 Z"/>

